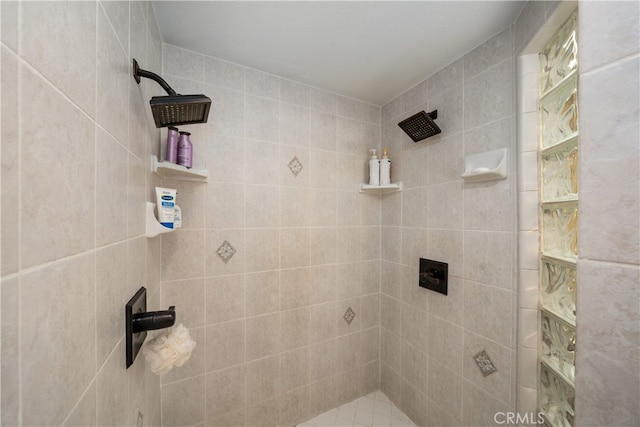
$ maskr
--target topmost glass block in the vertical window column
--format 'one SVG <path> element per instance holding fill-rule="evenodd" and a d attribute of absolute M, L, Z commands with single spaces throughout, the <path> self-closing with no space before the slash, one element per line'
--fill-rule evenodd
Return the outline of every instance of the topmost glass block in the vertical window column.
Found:
<path fill-rule="evenodd" d="M 574 13 L 539 54 L 540 94 L 547 93 L 578 68 L 577 18 Z"/>

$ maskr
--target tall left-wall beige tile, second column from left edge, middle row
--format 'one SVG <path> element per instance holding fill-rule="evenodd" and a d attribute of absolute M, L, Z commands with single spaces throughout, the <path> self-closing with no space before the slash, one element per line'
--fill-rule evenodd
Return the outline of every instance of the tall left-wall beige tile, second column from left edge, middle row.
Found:
<path fill-rule="evenodd" d="M 94 246 L 95 125 L 26 67 L 21 79 L 20 249 L 27 267 Z M 64 145 L 51 144 L 52 134 Z M 46 180 L 43 170 L 50 171 Z M 52 218 L 65 220 L 51 227 Z"/>

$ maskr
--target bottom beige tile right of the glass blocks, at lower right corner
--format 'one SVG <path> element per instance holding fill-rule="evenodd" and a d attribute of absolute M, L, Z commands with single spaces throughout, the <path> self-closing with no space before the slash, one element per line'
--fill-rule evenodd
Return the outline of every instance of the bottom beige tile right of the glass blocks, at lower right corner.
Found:
<path fill-rule="evenodd" d="M 637 266 L 579 261 L 577 310 L 585 332 L 576 343 L 576 389 L 588 393 L 576 401 L 579 419 L 604 424 L 640 419 L 640 387 L 631 374 L 640 359 L 639 278 Z M 602 286 L 603 281 L 615 286 Z"/>

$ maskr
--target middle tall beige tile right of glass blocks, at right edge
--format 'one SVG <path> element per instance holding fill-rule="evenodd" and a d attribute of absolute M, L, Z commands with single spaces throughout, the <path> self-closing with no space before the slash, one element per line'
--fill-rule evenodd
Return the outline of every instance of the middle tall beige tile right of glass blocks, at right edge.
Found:
<path fill-rule="evenodd" d="M 578 251 L 581 258 L 638 265 L 640 101 L 629 94 L 640 90 L 640 60 L 630 59 L 593 74 L 583 73 L 580 75 L 580 102 L 585 106 L 580 110 Z M 602 98 L 605 95 L 606 98 Z M 602 99 L 610 101 L 603 105 Z M 601 126 L 594 126 L 588 121 L 596 117 L 599 108 L 605 108 L 606 115 L 600 115 Z"/>

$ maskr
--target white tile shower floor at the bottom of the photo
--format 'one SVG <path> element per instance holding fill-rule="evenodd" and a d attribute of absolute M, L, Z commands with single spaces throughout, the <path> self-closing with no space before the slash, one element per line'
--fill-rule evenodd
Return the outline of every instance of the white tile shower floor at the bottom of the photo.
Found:
<path fill-rule="evenodd" d="M 338 406 L 297 427 L 409 427 L 415 424 L 380 390 Z"/>

